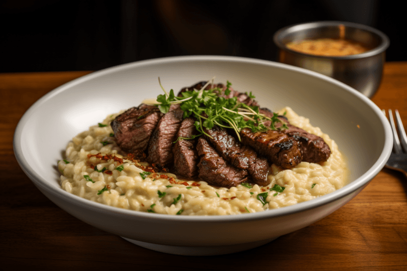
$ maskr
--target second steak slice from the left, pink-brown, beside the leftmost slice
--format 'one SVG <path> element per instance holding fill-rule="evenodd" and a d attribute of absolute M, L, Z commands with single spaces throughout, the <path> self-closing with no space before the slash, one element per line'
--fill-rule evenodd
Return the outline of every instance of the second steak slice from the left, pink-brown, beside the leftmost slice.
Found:
<path fill-rule="evenodd" d="M 147 162 L 164 166 L 173 161 L 172 142 L 177 140 L 183 113 L 181 109 L 171 110 L 160 119 L 149 141 Z"/>

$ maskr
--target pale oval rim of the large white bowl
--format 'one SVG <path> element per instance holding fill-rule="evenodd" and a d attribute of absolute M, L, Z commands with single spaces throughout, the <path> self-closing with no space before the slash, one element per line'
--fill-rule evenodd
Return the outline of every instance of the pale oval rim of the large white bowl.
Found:
<path fill-rule="evenodd" d="M 48 184 L 47 180 L 42 178 L 35 170 L 30 166 L 30 163 L 23 157 L 22 155 L 22 147 L 21 147 L 21 138 L 22 138 L 22 131 L 25 124 L 29 121 L 30 116 L 36 111 L 37 108 L 41 107 L 41 105 L 62 92 L 69 91 L 71 87 L 74 87 L 84 81 L 88 81 L 90 79 L 94 79 L 105 74 L 109 74 L 111 72 L 118 72 L 127 69 L 134 69 L 137 67 L 142 67 L 145 65 L 154 65 L 154 64 L 162 64 L 162 63 L 173 63 L 173 62 L 195 62 L 195 61 L 202 61 L 202 62 L 239 62 L 239 63 L 246 63 L 246 64 L 256 64 L 256 65 L 265 65 L 265 66 L 272 66 L 275 68 L 286 69 L 294 72 L 299 72 L 302 74 L 307 74 L 312 77 L 316 77 L 317 79 L 329 81 L 333 84 L 338 85 L 343 91 L 351 93 L 357 98 L 363 100 L 380 118 L 380 124 L 384 128 L 385 132 L 385 142 L 382 153 L 379 156 L 379 159 L 375 161 L 373 166 L 366 171 L 362 176 L 359 178 L 352 180 L 352 183 L 345 185 L 343 188 L 338 189 L 332 193 L 327 195 L 297 203 L 292 206 L 286 206 L 278 209 L 269 209 L 265 210 L 264 212 L 258 213 L 250 213 L 250 214 L 240 214 L 240 215 L 225 215 L 225 216 L 174 216 L 174 215 L 165 215 L 165 214 L 151 214 L 145 212 L 138 212 L 135 210 L 129 209 L 122 209 L 119 207 L 112 207 L 106 204 L 93 202 L 91 200 L 81 198 L 79 196 L 73 195 L 68 193 L 67 191 L 63 190 L 62 188 L 57 188 Z M 379 124 L 378 124 L 379 125 Z M 64 201 L 68 201 L 73 203 L 77 206 L 81 206 L 86 209 L 93 210 L 95 212 L 99 212 L 102 214 L 107 215 L 115 215 L 121 218 L 132 219 L 132 220 L 139 220 L 139 219 L 148 219 L 152 221 L 161 221 L 161 222 L 168 222 L 168 221 L 184 221 L 184 222 L 238 222 L 238 221 L 253 221 L 253 220 L 265 220 L 270 219 L 272 217 L 280 217 L 280 216 L 287 216 L 299 212 L 303 212 L 308 209 L 316 208 L 318 206 L 322 206 L 328 204 L 330 202 L 339 200 L 340 198 L 345 197 L 348 194 L 351 194 L 358 189 L 362 189 L 365 185 L 367 185 L 370 180 L 377 174 L 379 171 L 384 167 L 385 163 L 387 162 L 391 150 L 393 146 L 393 137 L 391 134 L 390 124 L 387 121 L 386 117 L 382 113 L 382 111 L 377 107 L 371 100 L 369 100 L 366 96 L 362 95 L 356 89 L 339 82 L 331 77 L 309 71 L 303 68 L 290 66 L 282 63 L 266 61 L 263 59 L 256 59 L 256 58 L 247 58 L 247 57 L 238 57 L 238 56 L 219 56 L 219 55 L 191 55 L 191 56 L 171 56 L 171 57 L 163 57 L 163 58 L 155 58 L 155 59 L 147 59 L 144 61 L 138 61 L 128 64 L 123 64 L 119 66 L 110 67 L 107 69 L 103 69 L 100 71 L 96 71 L 79 78 L 76 78 L 72 81 L 69 81 L 59 87 L 54 88 L 52 91 L 41 97 L 38 101 L 36 101 L 27 111 L 23 114 L 20 121 L 17 124 L 15 129 L 14 137 L 13 137 L 13 149 L 16 160 L 24 173 L 32 180 L 32 182 L 38 187 L 41 188 L 41 192 L 44 193 L 42 190 L 56 196 L 60 197 Z"/>

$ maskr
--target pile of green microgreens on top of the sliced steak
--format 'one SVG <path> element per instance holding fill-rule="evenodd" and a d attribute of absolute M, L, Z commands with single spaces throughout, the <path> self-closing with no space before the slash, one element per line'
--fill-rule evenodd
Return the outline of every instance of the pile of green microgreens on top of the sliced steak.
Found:
<path fill-rule="evenodd" d="M 194 89 L 193 91 L 183 92 L 181 93 L 182 97 L 178 97 L 174 95 L 172 89 L 169 93 L 165 91 L 164 87 L 161 85 L 160 78 L 158 78 L 158 81 L 165 93 L 157 96 L 157 103 L 160 111 L 162 113 L 167 113 L 171 104 L 181 104 L 181 109 L 184 111 L 184 118 L 189 116 L 196 118 L 194 125 L 199 133 L 196 136 L 202 134 L 209 136 L 205 133 L 205 129 L 212 129 L 214 125 L 235 130 L 239 141 L 239 133 L 243 128 L 250 128 L 254 133 L 266 131 L 268 129 L 279 130 L 287 128 L 284 123 L 280 128 L 276 128 L 275 123 L 281 123 L 281 120 L 277 118 L 277 113 L 274 113 L 274 116 L 270 118 L 259 113 L 257 106 L 248 106 L 244 103 L 238 102 L 236 97 L 229 99 L 219 97 L 218 94 L 223 92 L 223 89 L 220 89 L 219 87 L 208 90 L 205 89 L 209 82 L 199 90 Z M 224 91 L 226 96 L 230 94 L 230 86 L 231 83 L 227 81 L 226 89 Z M 251 92 L 247 95 L 250 98 L 255 98 Z M 266 121 L 271 121 L 270 127 L 264 125 L 264 122 Z"/>

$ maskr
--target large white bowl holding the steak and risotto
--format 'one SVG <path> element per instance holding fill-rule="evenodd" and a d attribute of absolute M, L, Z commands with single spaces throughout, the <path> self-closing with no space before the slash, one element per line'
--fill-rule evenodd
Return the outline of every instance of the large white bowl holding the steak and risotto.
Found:
<path fill-rule="evenodd" d="M 162 90 L 216 76 L 256 95 L 272 110 L 289 106 L 336 141 L 348 161 L 349 183 L 293 206 L 232 216 L 170 216 L 92 202 L 64 191 L 57 161 L 69 140 L 106 115 L 157 97 Z M 360 128 L 358 128 L 360 127 Z M 390 125 L 355 89 L 305 69 L 258 59 L 185 56 L 153 59 L 98 71 L 66 83 L 23 115 L 14 135 L 18 163 L 56 205 L 97 228 L 153 250 L 217 255 L 254 248 L 322 219 L 355 197 L 383 168 L 392 149 Z M 361 210 L 362 212 L 363 210 Z"/>

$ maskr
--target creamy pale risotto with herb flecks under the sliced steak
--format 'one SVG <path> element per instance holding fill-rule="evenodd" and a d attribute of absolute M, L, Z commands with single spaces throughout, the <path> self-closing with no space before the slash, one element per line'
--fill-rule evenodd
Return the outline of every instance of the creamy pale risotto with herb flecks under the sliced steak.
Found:
<path fill-rule="evenodd" d="M 284 111 L 290 124 L 325 140 L 332 152 L 327 162 L 301 162 L 286 170 L 272 165 L 268 176 L 271 182 L 267 187 L 245 183 L 227 189 L 206 182 L 179 180 L 171 173 L 146 172 L 147 164 L 123 156 L 114 143 L 109 125 L 118 113 L 109 115 L 69 142 L 66 159 L 58 163 L 61 186 L 69 193 L 110 206 L 200 216 L 261 212 L 311 200 L 343 187 L 346 163 L 336 143 L 319 128 L 311 126 L 309 119 L 289 107 L 279 113 Z"/>

